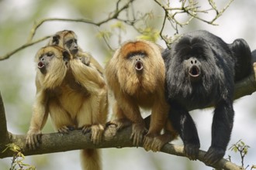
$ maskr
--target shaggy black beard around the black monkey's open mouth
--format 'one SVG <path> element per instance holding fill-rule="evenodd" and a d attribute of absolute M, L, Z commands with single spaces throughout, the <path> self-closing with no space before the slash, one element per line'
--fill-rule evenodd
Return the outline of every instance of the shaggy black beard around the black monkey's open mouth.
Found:
<path fill-rule="evenodd" d="M 191 107 L 204 107 L 219 98 L 220 89 L 225 86 L 224 74 L 223 70 L 214 64 L 214 59 L 201 61 L 201 80 L 195 83 L 189 79 L 189 70 L 182 63 L 175 63 L 173 60 L 170 63 L 167 71 L 169 99 L 178 99 Z"/>

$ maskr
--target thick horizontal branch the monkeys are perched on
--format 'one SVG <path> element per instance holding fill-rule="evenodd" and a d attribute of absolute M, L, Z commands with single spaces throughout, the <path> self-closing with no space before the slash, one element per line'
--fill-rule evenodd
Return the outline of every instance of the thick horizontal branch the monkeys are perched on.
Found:
<path fill-rule="evenodd" d="M 12 142 L 22 149 L 24 155 L 41 155 L 60 151 L 71 151 L 83 148 L 125 148 L 135 147 L 130 140 L 131 128 L 125 128 L 116 133 L 116 128 L 109 127 L 106 130 L 105 138 L 99 145 L 93 145 L 90 141 L 90 134 L 82 134 L 81 131 L 71 131 L 70 134 L 43 134 L 42 144 L 40 148 L 31 151 L 26 148 L 26 135 L 12 134 Z M 111 135 L 109 135 L 111 134 Z M 111 136 L 111 137 L 110 137 Z M 140 146 L 141 147 L 141 146 Z M 182 146 L 167 144 L 161 149 L 161 152 L 185 157 Z M 205 151 L 199 151 L 199 161 L 204 162 Z M 11 157 L 12 151 L 0 153 L 0 158 Z M 225 159 L 220 160 L 216 165 L 212 166 L 217 169 L 241 169 L 232 162 Z"/>

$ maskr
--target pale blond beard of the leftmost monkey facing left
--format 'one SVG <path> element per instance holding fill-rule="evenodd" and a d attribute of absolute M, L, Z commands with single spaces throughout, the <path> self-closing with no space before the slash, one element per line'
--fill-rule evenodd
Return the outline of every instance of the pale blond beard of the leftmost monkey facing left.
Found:
<path fill-rule="evenodd" d="M 48 65 L 47 74 L 45 76 L 41 74 L 41 76 L 44 76 L 40 79 L 42 80 L 42 86 L 45 89 L 54 89 L 55 87 L 61 86 L 67 70 L 68 67 L 65 65 L 64 61 L 57 58 L 52 59 Z"/>

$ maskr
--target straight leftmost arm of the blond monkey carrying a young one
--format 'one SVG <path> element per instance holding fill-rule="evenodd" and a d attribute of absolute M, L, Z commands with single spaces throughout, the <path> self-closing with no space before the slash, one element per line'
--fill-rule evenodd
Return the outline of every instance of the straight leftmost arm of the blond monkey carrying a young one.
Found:
<path fill-rule="evenodd" d="M 47 122 L 47 117 L 47 94 L 44 90 L 40 90 L 36 93 L 36 102 L 33 105 L 33 114 L 27 132 L 26 145 L 29 148 L 35 149 L 40 144 L 41 130 Z"/>

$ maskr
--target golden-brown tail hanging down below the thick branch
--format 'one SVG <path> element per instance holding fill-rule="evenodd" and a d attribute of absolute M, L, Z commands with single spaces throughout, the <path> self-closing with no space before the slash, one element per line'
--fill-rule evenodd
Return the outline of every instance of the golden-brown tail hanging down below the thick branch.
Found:
<path fill-rule="evenodd" d="M 102 158 L 99 149 L 83 149 L 80 153 L 83 170 L 101 170 Z"/>

